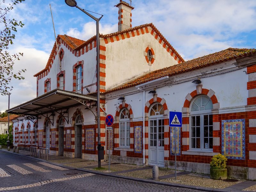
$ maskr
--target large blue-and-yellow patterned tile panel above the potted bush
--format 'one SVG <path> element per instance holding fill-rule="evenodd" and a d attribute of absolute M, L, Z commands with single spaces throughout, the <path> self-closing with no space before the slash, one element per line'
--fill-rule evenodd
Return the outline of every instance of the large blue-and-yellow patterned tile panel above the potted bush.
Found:
<path fill-rule="evenodd" d="M 221 121 L 221 153 L 228 159 L 245 159 L 245 119 Z"/>

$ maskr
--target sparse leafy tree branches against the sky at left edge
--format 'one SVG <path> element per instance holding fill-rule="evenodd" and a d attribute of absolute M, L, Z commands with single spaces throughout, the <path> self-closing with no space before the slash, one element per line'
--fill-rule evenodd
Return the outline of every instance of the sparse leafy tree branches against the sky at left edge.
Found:
<path fill-rule="evenodd" d="M 12 77 L 19 80 L 24 79 L 21 73 L 25 72 L 26 69 L 13 73 L 14 61 L 20 60 L 23 53 L 11 54 L 8 52 L 9 45 L 12 45 L 13 39 L 15 39 L 14 33 L 17 32 L 17 27 L 23 27 L 24 24 L 6 16 L 14 6 L 25 0 L 7 0 L 8 3 L 5 1 L 0 0 L 0 91 L 9 93 L 12 90 L 12 87 L 9 86 Z"/>

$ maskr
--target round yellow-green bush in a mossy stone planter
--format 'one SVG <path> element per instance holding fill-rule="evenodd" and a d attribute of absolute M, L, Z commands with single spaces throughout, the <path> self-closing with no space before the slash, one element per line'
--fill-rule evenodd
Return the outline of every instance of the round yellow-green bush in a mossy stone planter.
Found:
<path fill-rule="evenodd" d="M 228 178 L 227 171 L 227 161 L 228 159 L 221 154 L 212 157 L 210 162 L 210 178 L 223 180 Z"/>

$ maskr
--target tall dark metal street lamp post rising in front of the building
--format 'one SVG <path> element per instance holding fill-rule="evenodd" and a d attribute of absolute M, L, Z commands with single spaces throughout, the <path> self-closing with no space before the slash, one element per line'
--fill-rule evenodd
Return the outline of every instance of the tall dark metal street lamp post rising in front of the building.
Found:
<path fill-rule="evenodd" d="M 70 7 L 76 7 L 80 9 L 82 12 L 84 12 L 86 15 L 91 17 L 93 20 L 96 21 L 96 50 L 97 50 L 97 123 L 98 123 L 98 167 L 101 167 L 100 163 L 100 153 L 99 149 L 101 149 L 100 144 L 100 34 L 99 34 L 99 21 L 103 17 L 101 15 L 100 18 L 96 18 L 90 13 L 86 12 L 84 9 L 81 9 L 77 6 L 77 3 L 75 0 L 65 0 L 65 3 Z M 98 14 L 98 13 L 97 13 Z"/>

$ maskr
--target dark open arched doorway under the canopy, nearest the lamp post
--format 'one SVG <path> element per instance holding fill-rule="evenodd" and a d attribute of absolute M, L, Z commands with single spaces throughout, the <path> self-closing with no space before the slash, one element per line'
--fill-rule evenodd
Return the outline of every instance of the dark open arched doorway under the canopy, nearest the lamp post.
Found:
<path fill-rule="evenodd" d="M 81 115 L 76 116 L 75 123 L 75 157 L 82 157 L 82 124 Z"/>

